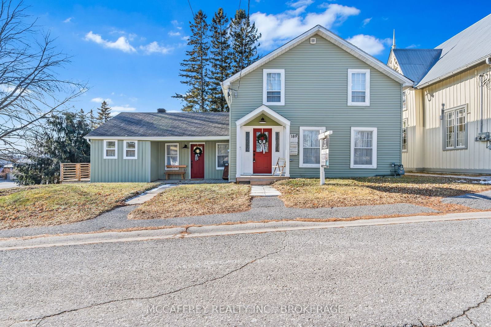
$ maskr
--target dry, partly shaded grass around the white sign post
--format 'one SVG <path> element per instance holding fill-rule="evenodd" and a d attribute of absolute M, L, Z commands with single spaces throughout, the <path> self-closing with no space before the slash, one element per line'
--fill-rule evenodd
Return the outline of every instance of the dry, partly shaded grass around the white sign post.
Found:
<path fill-rule="evenodd" d="M 441 212 L 463 211 L 466 207 L 442 203 L 442 197 L 491 190 L 491 185 L 452 177 L 403 176 L 401 178 L 293 178 L 273 184 L 288 207 L 317 208 L 372 204 L 412 203 Z"/>

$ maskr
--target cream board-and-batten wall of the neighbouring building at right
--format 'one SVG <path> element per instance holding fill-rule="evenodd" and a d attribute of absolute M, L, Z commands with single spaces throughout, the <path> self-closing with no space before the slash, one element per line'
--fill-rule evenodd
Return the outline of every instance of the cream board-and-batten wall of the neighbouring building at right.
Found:
<path fill-rule="evenodd" d="M 407 170 L 462 173 L 491 173 L 491 150 L 488 142 L 476 142 L 474 138 L 480 126 L 479 75 L 490 68 L 482 64 L 446 78 L 420 90 L 406 91 L 408 110 L 408 152 L 403 152 L 403 164 Z M 491 131 L 491 91 L 484 90 L 483 131 Z M 442 108 L 467 104 L 467 147 L 443 150 Z"/>

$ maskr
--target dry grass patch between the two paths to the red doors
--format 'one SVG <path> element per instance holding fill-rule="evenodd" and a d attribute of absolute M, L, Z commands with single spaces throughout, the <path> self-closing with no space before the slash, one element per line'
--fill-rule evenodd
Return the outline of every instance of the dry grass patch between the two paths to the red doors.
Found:
<path fill-rule="evenodd" d="M 133 210 L 130 219 L 165 219 L 247 211 L 250 186 L 190 184 L 172 187 Z"/>

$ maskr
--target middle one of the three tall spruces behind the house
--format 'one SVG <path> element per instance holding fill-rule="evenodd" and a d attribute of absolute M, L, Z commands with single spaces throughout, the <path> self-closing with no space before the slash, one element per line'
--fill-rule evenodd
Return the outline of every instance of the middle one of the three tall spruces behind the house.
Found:
<path fill-rule="evenodd" d="M 232 68 L 230 65 L 230 36 L 228 35 L 229 19 L 218 8 L 210 26 L 211 50 L 210 50 L 210 110 L 229 111 L 227 101 L 221 91 L 220 82 L 230 77 Z"/>

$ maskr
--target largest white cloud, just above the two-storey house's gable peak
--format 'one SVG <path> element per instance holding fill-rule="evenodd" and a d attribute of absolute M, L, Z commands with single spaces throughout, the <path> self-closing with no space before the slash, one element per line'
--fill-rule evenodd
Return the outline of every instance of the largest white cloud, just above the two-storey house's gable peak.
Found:
<path fill-rule="evenodd" d="M 337 3 L 325 3 L 325 10 L 320 13 L 307 13 L 305 9 L 312 0 L 297 0 L 288 2 L 294 8 L 279 14 L 266 14 L 256 12 L 251 15 L 251 20 L 262 34 L 261 47 L 271 49 L 274 46 L 285 43 L 300 33 L 307 31 L 315 25 L 330 28 L 334 24 L 341 24 L 348 17 L 355 16 L 360 10 L 355 7 L 340 5 Z"/>

